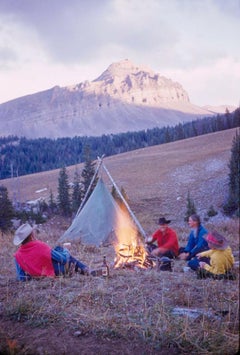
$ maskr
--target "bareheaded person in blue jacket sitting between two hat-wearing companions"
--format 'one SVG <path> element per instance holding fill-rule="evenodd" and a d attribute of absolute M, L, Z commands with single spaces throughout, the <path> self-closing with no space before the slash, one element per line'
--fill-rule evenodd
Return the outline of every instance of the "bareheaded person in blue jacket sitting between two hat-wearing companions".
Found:
<path fill-rule="evenodd" d="M 188 242 L 185 247 L 179 249 L 179 259 L 187 260 L 188 266 L 192 270 L 197 270 L 199 266 L 199 260 L 196 255 L 202 251 L 208 250 L 208 243 L 204 239 L 204 235 L 207 235 L 207 230 L 202 226 L 201 219 L 197 214 L 193 214 L 188 219 L 188 224 L 191 228 L 191 232 L 188 237 Z M 204 261 L 204 259 L 202 260 Z"/>

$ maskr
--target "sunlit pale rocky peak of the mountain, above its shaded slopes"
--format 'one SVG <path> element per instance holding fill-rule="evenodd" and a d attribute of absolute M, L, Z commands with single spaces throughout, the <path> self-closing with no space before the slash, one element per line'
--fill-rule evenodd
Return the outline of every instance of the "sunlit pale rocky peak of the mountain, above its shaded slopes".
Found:
<path fill-rule="evenodd" d="M 91 83 L 91 89 L 98 94 L 104 90 L 111 97 L 135 105 L 159 107 L 167 102 L 189 103 L 188 94 L 179 83 L 128 59 L 111 64 Z"/>

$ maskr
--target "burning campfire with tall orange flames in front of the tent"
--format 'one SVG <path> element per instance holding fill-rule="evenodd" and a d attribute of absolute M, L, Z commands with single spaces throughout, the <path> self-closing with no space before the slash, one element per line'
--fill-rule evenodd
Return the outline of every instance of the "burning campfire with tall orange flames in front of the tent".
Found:
<path fill-rule="evenodd" d="M 136 228 L 129 225 L 122 216 L 118 218 L 116 236 L 114 268 L 146 269 L 153 266 Z"/>

